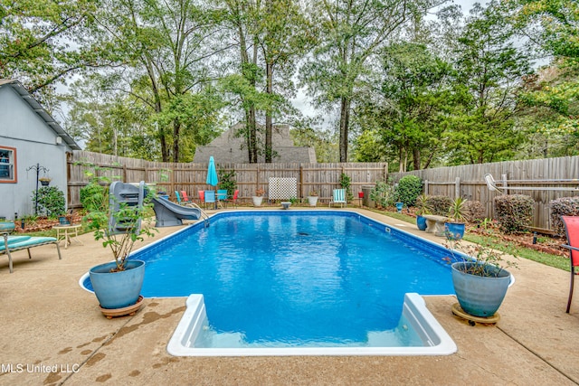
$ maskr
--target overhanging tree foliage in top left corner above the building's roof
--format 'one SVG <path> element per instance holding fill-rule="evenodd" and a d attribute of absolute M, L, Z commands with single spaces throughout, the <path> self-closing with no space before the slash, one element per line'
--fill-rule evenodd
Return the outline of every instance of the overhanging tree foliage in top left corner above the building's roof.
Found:
<path fill-rule="evenodd" d="M 37 93 L 88 66 L 99 66 L 86 33 L 98 4 L 0 0 L 0 79 L 20 80 Z"/>

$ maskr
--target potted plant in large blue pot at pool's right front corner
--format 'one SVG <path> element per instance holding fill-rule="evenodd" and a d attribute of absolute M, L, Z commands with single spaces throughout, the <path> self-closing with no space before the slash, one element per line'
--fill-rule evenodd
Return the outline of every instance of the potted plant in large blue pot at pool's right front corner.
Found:
<path fill-rule="evenodd" d="M 489 244 L 469 244 L 451 240 L 452 284 L 462 311 L 468 315 L 490 318 L 502 304 L 512 282 L 506 268 L 517 263 L 505 254 L 489 248 Z"/>

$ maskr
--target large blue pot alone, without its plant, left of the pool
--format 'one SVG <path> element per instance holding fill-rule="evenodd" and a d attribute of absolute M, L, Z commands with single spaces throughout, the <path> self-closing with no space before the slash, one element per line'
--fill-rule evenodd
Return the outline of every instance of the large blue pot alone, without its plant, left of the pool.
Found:
<path fill-rule="evenodd" d="M 94 294 L 103 308 L 116 309 L 137 303 L 145 278 L 145 261 L 128 260 L 127 268 L 110 272 L 115 262 L 90 268 L 89 276 Z"/>

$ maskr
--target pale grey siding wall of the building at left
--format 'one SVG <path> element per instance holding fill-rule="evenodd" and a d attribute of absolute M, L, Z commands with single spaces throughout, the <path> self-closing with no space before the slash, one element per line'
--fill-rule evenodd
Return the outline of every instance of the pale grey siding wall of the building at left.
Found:
<path fill-rule="evenodd" d="M 36 172 L 26 169 L 36 164 L 50 170 L 47 176 L 52 178 L 51 186 L 58 186 L 67 198 L 68 146 L 56 145 L 52 128 L 11 87 L 0 88 L 0 145 L 16 148 L 18 178 L 16 184 L 0 184 L 0 216 L 14 220 L 14 213 L 33 214 L 31 197 L 36 187 Z"/>

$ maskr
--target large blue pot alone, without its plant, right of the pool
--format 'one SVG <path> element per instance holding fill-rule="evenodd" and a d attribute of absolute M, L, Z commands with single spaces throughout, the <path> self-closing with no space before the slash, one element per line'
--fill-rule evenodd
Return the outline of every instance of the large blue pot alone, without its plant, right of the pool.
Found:
<path fill-rule="evenodd" d="M 507 295 L 510 273 L 501 269 L 498 278 L 486 278 L 470 275 L 461 269 L 465 265 L 476 264 L 475 262 L 452 264 L 454 292 L 464 312 L 473 316 L 490 317 L 495 315 Z M 489 267 L 489 269 L 494 272 L 498 271 L 495 267 Z"/>

